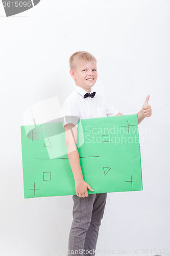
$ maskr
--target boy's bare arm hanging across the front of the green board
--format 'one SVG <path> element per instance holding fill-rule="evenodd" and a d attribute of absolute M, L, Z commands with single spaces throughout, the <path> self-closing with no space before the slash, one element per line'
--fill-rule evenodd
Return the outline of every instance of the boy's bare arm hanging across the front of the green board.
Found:
<path fill-rule="evenodd" d="M 94 191 L 87 182 L 84 181 L 80 166 L 79 152 L 77 149 L 77 127 L 72 124 L 66 124 L 65 139 L 67 145 L 68 159 L 75 178 L 75 188 L 78 197 L 88 197 L 88 190 Z"/>

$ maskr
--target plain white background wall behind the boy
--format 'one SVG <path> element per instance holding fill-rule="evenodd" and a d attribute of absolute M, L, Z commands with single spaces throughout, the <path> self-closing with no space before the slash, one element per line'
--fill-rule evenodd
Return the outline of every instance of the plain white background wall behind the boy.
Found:
<path fill-rule="evenodd" d="M 62 106 L 75 86 L 68 58 L 80 50 L 98 60 L 95 90 L 116 109 L 135 114 L 150 94 L 153 111 L 139 126 L 143 190 L 108 194 L 96 255 L 170 254 L 169 8 L 168 0 L 41 0 L 7 18 L 0 3 L 1 255 L 66 255 L 72 198 L 24 199 L 20 125 L 34 103 L 58 96 Z"/>

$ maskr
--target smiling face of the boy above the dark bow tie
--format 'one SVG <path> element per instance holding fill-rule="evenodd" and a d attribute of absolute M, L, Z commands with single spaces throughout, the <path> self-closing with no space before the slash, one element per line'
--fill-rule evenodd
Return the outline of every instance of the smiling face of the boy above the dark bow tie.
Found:
<path fill-rule="evenodd" d="M 75 79 L 77 86 L 90 93 L 91 87 L 94 86 L 98 78 L 96 63 L 93 61 L 81 63 L 75 71 L 70 70 L 70 75 Z"/>

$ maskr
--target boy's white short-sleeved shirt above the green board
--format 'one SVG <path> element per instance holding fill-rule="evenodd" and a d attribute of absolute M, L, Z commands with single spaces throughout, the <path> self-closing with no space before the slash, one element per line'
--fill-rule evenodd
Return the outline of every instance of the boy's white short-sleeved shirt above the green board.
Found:
<path fill-rule="evenodd" d="M 92 93 L 92 89 L 91 92 Z M 115 116 L 119 113 L 102 95 L 95 94 L 94 98 L 83 98 L 87 92 L 76 86 L 74 91 L 65 99 L 61 108 L 62 116 L 77 116 L 80 119 Z M 66 121 L 65 124 L 68 122 Z"/>

